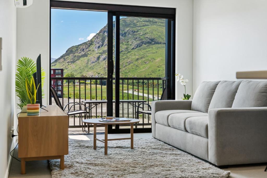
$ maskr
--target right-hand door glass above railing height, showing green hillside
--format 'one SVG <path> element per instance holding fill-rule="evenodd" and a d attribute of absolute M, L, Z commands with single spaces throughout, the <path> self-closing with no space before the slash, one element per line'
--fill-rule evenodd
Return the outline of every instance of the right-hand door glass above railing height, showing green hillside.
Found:
<path fill-rule="evenodd" d="M 165 76 L 165 21 L 120 18 L 120 77 Z"/>

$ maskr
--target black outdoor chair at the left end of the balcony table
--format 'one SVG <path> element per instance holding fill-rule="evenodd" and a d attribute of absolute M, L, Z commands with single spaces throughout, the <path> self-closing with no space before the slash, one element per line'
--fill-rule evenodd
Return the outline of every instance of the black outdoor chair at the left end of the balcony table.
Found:
<path fill-rule="evenodd" d="M 57 106 L 59 106 L 64 112 L 65 112 L 67 106 L 69 106 L 70 104 L 72 104 L 72 105 L 70 106 L 68 112 L 65 112 L 65 113 L 66 113 L 68 116 L 79 115 L 79 116 L 80 116 L 80 119 L 81 119 L 81 121 L 82 121 L 82 130 L 83 130 L 83 132 L 84 132 L 84 131 L 85 131 L 85 128 L 83 128 L 83 114 L 85 114 L 85 119 L 87 119 L 87 113 L 89 113 L 89 112 L 87 112 L 87 107 L 86 107 L 84 104 L 81 104 L 81 103 L 78 103 L 78 102 L 71 102 L 71 103 L 68 103 L 68 104 L 65 106 L 65 108 L 63 109 L 63 107 L 62 107 L 62 105 L 61 105 L 61 103 L 60 103 L 60 100 L 59 100 L 59 98 L 58 98 L 58 96 L 57 96 L 57 92 L 56 92 L 56 90 L 51 86 L 51 87 L 50 87 L 50 91 L 51 91 L 51 94 L 52 94 L 52 96 L 53 96 L 53 98 L 54 98 L 54 100 L 55 100 Z M 80 109 L 79 109 L 79 110 L 70 111 L 71 108 L 72 108 L 73 106 L 75 106 L 75 105 L 79 105 L 79 108 L 80 108 Z M 81 107 L 81 106 L 84 106 L 85 110 L 82 110 L 82 107 Z"/>

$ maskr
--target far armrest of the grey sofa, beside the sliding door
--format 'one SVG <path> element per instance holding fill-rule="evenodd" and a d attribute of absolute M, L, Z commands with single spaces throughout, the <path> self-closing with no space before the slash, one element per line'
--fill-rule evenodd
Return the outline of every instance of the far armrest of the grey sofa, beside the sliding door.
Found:
<path fill-rule="evenodd" d="M 164 110 L 191 110 L 192 100 L 159 100 L 153 101 L 151 107 L 152 137 L 155 137 L 155 113 Z"/>

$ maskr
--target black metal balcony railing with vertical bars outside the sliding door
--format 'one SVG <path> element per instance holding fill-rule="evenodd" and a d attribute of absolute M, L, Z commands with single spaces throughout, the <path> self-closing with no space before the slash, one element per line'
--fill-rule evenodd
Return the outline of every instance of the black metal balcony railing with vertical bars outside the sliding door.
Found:
<path fill-rule="evenodd" d="M 63 106 L 70 102 L 79 102 L 83 100 L 106 100 L 107 92 L 106 83 L 107 78 L 99 77 L 51 77 L 51 80 L 56 80 L 56 91 L 59 89 L 58 82 L 62 83 L 60 102 Z M 159 100 L 165 87 L 165 78 L 120 78 L 120 100 L 146 100 L 148 104 L 151 104 L 154 100 Z M 115 100 L 115 78 L 113 78 L 113 100 Z M 54 100 L 50 98 L 52 104 Z M 90 113 L 88 118 L 101 118 L 106 116 L 106 104 L 100 104 L 99 107 L 89 106 Z M 75 106 L 72 107 L 75 110 Z M 97 109 L 99 108 L 99 109 Z M 143 105 L 144 109 L 147 109 L 146 105 Z M 68 105 L 69 109 L 69 105 Z M 76 109 L 78 109 L 76 107 Z M 113 106 L 114 113 L 114 106 Z M 136 108 L 129 103 L 120 104 L 120 117 L 135 118 Z M 82 127 L 81 117 L 73 116 L 73 119 L 69 119 L 69 128 Z M 146 118 L 146 124 L 140 123 L 142 127 L 144 125 L 151 125 L 148 116 L 142 115 L 139 118 Z M 143 119 L 144 120 L 144 119 Z M 76 121 L 76 123 L 75 123 Z M 77 124 L 79 122 L 79 124 Z"/>

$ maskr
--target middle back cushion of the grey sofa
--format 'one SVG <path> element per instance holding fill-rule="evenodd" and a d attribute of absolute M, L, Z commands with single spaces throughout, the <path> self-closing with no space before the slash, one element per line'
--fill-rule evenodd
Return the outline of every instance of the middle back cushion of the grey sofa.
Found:
<path fill-rule="evenodd" d="M 230 108 L 233 105 L 235 94 L 242 80 L 221 81 L 211 99 L 209 110 L 214 108 Z"/>

